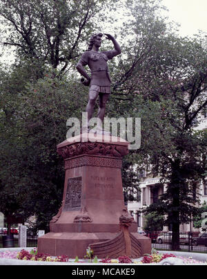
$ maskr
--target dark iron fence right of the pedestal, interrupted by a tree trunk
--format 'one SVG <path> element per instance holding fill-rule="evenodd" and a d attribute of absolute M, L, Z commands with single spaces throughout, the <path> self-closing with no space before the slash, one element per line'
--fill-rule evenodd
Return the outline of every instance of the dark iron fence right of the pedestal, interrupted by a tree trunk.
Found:
<path fill-rule="evenodd" d="M 172 232 L 146 232 L 152 241 L 152 248 L 172 251 Z M 178 251 L 207 253 L 207 233 L 179 233 Z"/>

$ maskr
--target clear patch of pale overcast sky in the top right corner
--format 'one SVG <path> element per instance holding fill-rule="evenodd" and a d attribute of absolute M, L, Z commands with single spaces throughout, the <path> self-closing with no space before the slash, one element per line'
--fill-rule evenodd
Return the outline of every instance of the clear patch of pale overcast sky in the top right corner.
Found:
<path fill-rule="evenodd" d="M 171 21 L 181 24 L 179 34 L 192 36 L 198 30 L 207 32 L 207 0 L 162 0 Z"/>

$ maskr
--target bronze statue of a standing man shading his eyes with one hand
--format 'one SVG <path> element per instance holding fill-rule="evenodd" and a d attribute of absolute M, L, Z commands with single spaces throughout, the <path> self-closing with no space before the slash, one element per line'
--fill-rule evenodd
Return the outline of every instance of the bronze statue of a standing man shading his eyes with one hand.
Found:
<path fill-rule="evenodd" d="M 81 55 L 81 59 L 77 64 L 77 71 L 83 75 L 86 80 L 82 79 L 83 84 L 90 85 L 89 100 L 86 107 L 88 112 L 88 122 L 92 118 L 95 102 L 99 95 L 99 111 L 98 111 L 98 123 L 97 130 L 102 130 L 102 122 L 106 111 L 106 102 L 110 94 L 110 75 L 108 73 L 107 61 L 119 55 L 121 48 L 116 39 L 110 34 L 106 35 L 106 39 L 110 39 L 114 44 L 114 50 L 112 51 L 99 51 L 101 46 L 101 37 L 103 34 L 98 33 L 90 37 L 88 51 Z M 91 71 L 91 76 L 88 75 L 84 66 L 88 65 Z M 88 130 L 88 127 L 86 127 Z"/>

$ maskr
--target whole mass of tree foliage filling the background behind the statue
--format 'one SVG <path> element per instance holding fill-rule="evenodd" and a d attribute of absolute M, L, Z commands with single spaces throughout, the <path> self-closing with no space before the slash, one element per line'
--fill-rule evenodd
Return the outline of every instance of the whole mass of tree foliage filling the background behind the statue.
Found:
<path fill-rule="evenodd" d="M 126 20 L 115 28 L 108 12 L 115 4 L 0 1 L 4 46 L 16 47 L 12 67 L 0 67 L 0 210 L 6 215 L 35 214 L 45 228 L 57 213 L 64 170 L 56 146 L 66 138 L 66 120 L 80 119 L 88 99 L 74 66 L 90 34 L 106 22 L 122 50 L 108 63 L 113 82 L 106 116 L 141 118 L 141 147 L 124 159 L 124 188 L 139 182 L 130 165 L 152 166 L 168 187 L 148 213 L 166 215 L 172 231 L 197 213 L 192 192 L 206 173 L 206 132 L 194 129 L 207 103 L 205 38 L 177 36 L 155 0 L 126 1 Z"/>

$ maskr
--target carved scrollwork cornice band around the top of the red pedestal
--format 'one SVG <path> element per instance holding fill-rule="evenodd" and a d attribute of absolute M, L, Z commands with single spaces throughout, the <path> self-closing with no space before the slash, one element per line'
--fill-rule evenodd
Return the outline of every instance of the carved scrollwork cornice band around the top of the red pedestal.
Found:
<path fill-rule="evenodd" d="M 74 156 L 83 154 L 102 155 L 119 157 L 128 154 L 128 148 L 126 146 L 114 145 L 110 143 L 73 143 L 72 145 L 66 145 L 59 147 L 57 153 L 67 159 Z"/>

